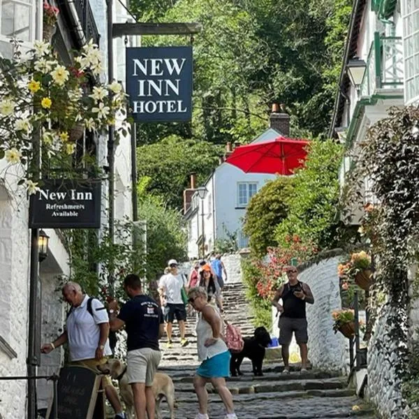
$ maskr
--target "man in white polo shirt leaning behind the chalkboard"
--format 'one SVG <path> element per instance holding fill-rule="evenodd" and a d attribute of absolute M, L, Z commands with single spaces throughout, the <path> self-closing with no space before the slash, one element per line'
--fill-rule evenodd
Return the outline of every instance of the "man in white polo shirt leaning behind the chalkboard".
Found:
<path fill-rule="evenodd" d="M 71 304 L 66 330 L 51 343 L 44 344 L 41 351 L 50 353 L 67 342 L 71 365 L 81 365 L 99 373 L 97 365 L 104 364 L 107 355 L 112 355 L 108 340 L 108 313 L 99 300 L 83 294 L 82 288 L 76 282 L 67 282 L 62 288 L 62 293 L 64 300 Z M 104 376 L 103 387 L 115 410 L 115 419 L 125 419 L 117 390 L 109 376 Z"/>

